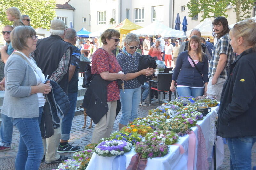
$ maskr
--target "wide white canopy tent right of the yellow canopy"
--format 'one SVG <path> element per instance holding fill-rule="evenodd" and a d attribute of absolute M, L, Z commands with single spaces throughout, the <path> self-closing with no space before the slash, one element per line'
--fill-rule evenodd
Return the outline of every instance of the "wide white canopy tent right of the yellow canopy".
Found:
<path fill-rule="evenodd" d="M 175 30 L 165 26 L 160 22 L 153 22 L 144 28 L 140 28 L 138 30 L 133 30 L 131 33 L 137 34 L 138 36 L 145 37 L 146 35 L 155 36 L 161 34 L 162 37 L 177 37 L 177 38 L 184 38 L 183 31 Z"/>

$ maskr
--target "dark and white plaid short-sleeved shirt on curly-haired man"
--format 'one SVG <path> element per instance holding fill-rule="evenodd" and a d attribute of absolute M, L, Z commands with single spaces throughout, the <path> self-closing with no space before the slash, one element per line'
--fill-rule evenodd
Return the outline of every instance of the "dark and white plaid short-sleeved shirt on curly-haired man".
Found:
<path fill-rule="evenodd" d="M 228 34 L 223 35 L 219 39 L 217 39 L 216 44 L 214 45 L 214 48 L 212 50 L 212 58 L 209 63 L 209 73 L 208 73 L 208 78 L 213 77 L 218 61 L 220 59 L 220 54 L 226 54 L 227 55 L 227 62 L 226 65 L 223 69 L 223 71 L 220 74 L 220 78 L 227 79 L 228 77 L 228 67 L 230 64 L 235 61 L 235 55 L 232 50 L 232 46 L 229 43 L 229 36 Z"/>

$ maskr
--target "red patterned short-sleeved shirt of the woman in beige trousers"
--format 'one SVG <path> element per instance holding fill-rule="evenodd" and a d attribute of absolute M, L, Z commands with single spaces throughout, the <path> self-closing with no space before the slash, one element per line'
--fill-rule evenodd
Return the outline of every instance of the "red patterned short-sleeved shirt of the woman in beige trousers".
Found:
<path fill-rule="evenodd" d="M 118 73 L 122 68 L 118 64 L 116 57 L 112 53 L 109 55 L 107 51 L 102 48 L 96 50 L 92 56 L 92 74 L 100 74 L 108 71 L 109 73 Z M 119 88 L 116 81 L 111 82 L 107 86 L 107 102 L 120 99 Z"/>

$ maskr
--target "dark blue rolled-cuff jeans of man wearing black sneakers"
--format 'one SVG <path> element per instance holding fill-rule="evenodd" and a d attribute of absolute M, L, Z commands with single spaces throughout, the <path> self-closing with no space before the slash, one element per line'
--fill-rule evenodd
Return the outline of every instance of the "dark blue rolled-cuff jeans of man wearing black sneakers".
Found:
<path fill-rule="evenodd" d="M 75 116 L 75 110 L 76 110 L 77 94 L 78 92 L 68 93 L 70 108 L 68 110 L 68 113 L 62 119 L 62 123 L 61 123 L 61 139 L 62 140 L 69 140 L 70 138 L 72 120 Z"/>

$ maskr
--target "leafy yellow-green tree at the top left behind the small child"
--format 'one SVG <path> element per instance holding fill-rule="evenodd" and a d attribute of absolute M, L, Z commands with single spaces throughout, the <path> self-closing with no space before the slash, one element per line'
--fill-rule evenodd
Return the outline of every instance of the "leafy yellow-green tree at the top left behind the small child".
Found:
<path fill-rule="evenodd" d="M 56 0 L 1 0 L 0 22 L 2 25 L 12 25 L 6 18 L 6 10 L 10 7 L 20 9 L 21 15 L 28 15 L 33 28 L 49 29 L 50 21 L 56 16 Z"/>

